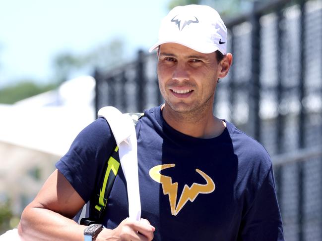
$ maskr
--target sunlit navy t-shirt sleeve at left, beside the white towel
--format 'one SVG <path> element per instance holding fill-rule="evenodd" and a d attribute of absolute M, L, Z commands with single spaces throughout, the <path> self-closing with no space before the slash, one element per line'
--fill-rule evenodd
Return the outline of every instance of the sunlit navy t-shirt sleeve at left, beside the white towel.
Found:
<path fill-rule="evenodd" d="M 108 123 L 99 118 L 77 135 L 68 152 L 56 163 L 56 168 L 85 202 L 90 199 L 115 146 Z"/>

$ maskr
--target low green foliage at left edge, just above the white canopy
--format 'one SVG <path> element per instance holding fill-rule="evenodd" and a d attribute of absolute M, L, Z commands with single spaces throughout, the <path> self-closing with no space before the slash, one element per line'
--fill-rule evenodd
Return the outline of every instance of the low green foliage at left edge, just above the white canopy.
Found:
<path fill-rule="evenodd" d="M 56 84 L 37 85 L 32 81 L 22 81 L 0 89 L 0 103 L 13 104 L 14 102 L 53 90 Z"/>

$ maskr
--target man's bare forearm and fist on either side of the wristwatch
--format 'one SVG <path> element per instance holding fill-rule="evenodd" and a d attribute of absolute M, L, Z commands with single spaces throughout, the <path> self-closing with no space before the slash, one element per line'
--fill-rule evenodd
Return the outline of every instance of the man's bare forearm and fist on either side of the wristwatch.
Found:
<path fill-rule="evenodd" d="M 86 226 L 44 208 L 27 206 L 18 232 L 23 241 L 83 241 Z M 114 230 L 103 229 L 97 241 L 152 241 L 155 228 L 146 219 L 123 220 Z"/>

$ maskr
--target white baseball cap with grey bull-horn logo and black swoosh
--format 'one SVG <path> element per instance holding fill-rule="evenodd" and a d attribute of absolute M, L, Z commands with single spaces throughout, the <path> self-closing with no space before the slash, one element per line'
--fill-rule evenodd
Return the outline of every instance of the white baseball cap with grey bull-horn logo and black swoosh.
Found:
<path fill-rule="evenodd" d="M 177 43 L 201 53 L 227 51 L 227 28 L 219 13 L 210 6 L 174 7 L 165 16 L 159 29 L 159 40 L 149 52 L 165 43 Z"/>

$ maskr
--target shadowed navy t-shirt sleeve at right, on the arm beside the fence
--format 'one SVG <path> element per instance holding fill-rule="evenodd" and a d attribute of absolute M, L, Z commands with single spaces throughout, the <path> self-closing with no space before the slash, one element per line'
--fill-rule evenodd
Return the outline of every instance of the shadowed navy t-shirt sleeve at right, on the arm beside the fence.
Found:
<path fill-rule="evenodd" d="M 272 167 L 242 219 L 239 236 L 240 241 L 284 241 Z"/>

